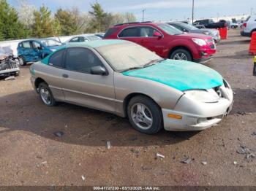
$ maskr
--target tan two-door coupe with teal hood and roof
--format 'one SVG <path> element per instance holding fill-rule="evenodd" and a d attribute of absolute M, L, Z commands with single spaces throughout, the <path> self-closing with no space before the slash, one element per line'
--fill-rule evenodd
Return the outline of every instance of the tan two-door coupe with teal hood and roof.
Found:
<path fill-rule="evenodd" d="M 47 106 L 64 101 L 128 117 L 142 133 L 210 128 L 233 104 L 217 71 L 122 40 L 68 44 L 30 70 Z"/>

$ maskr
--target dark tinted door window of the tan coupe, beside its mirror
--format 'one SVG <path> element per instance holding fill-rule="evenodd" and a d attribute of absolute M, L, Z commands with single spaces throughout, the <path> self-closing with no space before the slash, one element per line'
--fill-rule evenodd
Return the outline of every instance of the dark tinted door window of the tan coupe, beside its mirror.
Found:
<path fill-rule="evenodd" d="M 67 50 L 66 69 L 90 74 L 91 67 L 103 66 L 97 55 L 89 49 L 72 47 Z"/>

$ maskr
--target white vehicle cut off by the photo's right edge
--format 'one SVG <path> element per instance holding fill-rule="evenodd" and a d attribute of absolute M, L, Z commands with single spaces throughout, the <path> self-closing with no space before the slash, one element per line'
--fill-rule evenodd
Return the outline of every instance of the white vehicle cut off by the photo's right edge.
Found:
<path fill-rule="evenodd" d="M 256 15 L 249 16 L 241 28 L 241 36 L 252 36 L 256 31 Z"/>

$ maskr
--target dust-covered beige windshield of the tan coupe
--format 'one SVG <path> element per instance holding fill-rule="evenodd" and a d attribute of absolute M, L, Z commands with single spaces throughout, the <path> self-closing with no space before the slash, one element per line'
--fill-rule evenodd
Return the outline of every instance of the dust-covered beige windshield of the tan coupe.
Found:
<path fill-rule="evenodd" d="M 98 47 L 97 51 L 116 71 L 143 68 L 151 63 L 161 61 L 155 53 L 132 42 L 111 44 Z"/>

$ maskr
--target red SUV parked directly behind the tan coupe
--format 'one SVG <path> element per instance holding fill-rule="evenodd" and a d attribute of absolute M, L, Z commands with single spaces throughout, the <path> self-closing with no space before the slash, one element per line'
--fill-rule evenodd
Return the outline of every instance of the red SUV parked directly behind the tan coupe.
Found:
<path fill-rule="evenodd" d="M 123 39 L 140 44 L 162 58 L 206 62 L 216 52 L 211 36 L 184 34 L 165 23 L 123 23 L 109 28 L 103 39 Z"/>

